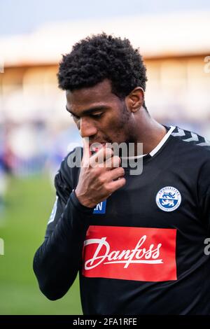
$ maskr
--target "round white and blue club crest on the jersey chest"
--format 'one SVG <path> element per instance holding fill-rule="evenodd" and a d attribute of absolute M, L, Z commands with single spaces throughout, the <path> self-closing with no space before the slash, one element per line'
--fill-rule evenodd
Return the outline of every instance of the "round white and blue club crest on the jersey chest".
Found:
<path fill-rule="evenodd" d="M 165 186 L 157 193 L 156 204 L 163 211 L 174 211 L 181 204 L 181 194 L 176 188 Z"/>

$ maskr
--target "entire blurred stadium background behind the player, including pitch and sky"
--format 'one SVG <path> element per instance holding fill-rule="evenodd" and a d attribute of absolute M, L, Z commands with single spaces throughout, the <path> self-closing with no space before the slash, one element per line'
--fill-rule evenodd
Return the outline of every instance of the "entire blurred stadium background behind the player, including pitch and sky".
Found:
<path fill-rule="evenodd" d="M 106 1 L 100 8 L 96 1 L 90 6 L 80 1 L 83 11 L 77 8 L 73 16 L 76 3 L 50 1 L 57 10 L 50 17 L 49 1 L 29 1 L 31 7 L 23 2 L 0 3 L 0 238 L 5 244 L 0 314 L 81 314 L 78 281 L 62 300 L 50 302 L 32 271 L 54 203 L 53 177 L 64 155 L 80 143 L 65 111 L 64 92 L 57 88 L 61 54 L 92 33 L 130 38 L 147 66 L 148 111 L 160 123 L 210 139 L 210 6 L 208 1 L 197 6 L 196 1 L 185 1 L 186 6 L 159 1 L 159 7 L 155 1 L 147 6 L 134 1 L 128 8 L 127 1 L 114 6 Z M 17 10 L 20 31 L 10 10 L 3 18 L 9 7 Z M 42 20 L 33 21 L 38 13 Z"/>

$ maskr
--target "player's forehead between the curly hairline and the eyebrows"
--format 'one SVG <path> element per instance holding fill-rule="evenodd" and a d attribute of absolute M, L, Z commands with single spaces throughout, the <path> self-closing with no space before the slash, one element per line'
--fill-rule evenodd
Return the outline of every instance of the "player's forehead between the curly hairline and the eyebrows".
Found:
<path fill-rule="evenodd" d="M 118 97 L 111 92 L 109 80 L 104 80 L 93 87 L 85 87 L 73 92 L 66 91 L 66 99 L 71 109 L 86 109 L 119 101 Z"/>

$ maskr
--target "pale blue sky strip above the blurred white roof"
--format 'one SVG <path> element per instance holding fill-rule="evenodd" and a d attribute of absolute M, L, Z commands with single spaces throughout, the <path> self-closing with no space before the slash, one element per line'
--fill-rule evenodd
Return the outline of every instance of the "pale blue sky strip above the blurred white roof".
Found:
<path fill-rule="evenodd" d="M 146 13 L 210 10 L 209 0 L 0 0 L 0 36 L 25 34 L 49 22 Z"/>

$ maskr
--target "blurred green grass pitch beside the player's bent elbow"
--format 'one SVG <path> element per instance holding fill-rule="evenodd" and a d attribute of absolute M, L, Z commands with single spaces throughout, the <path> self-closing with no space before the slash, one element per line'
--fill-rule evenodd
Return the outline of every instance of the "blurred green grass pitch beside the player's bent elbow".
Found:
<path fill-rule="evenodd" d="M 55 200 L 48 174 L 9 179 L 6 211 L 0 220 L 0 314 L 82 314 L 78 279 L 61 300 L 38 289 L 32 262 L 41 245 Z"/>

